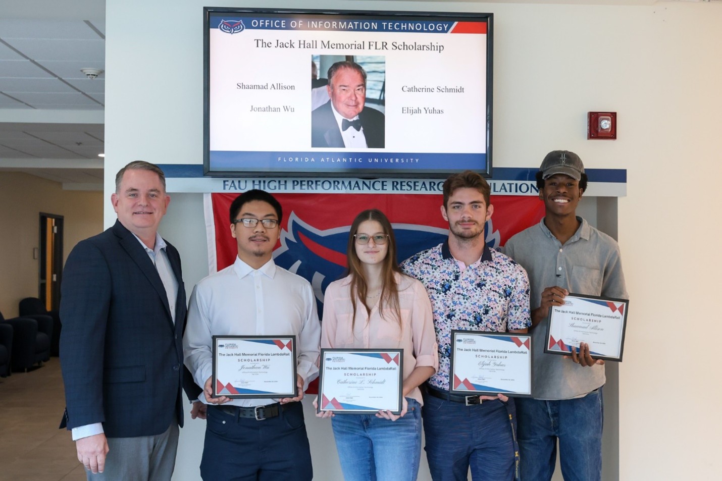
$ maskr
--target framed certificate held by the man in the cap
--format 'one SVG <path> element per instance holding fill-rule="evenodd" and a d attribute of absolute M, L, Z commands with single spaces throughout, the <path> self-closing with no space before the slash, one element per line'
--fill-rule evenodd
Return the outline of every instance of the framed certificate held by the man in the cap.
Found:
<path fill-rule="evenodd" d="M 569 355 L 581 342 L 595 359 L 622 360 L 629 300 L 570 294 L 552 306 L 544 352 Z"/>

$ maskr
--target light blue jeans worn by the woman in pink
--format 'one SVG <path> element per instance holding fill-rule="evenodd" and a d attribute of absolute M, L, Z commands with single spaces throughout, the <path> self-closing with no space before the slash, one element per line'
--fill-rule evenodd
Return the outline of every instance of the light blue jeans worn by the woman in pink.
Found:
<path fill-rule="evenodd" d="M 421 458 L 421 406 L 406 398 L 406 415 L 336 414 L 331 419 L 346 481 L 415 481 Z"/>

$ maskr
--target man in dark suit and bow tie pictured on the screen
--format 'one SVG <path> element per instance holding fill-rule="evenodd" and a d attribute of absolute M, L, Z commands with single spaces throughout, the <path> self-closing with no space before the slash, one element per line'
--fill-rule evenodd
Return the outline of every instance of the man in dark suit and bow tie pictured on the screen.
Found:
<path fill-rule="evenodd" d="M 311 112 L 311 147 L 383 149 L 386 118 L 366 108 L 366 71 L 341 61 L 329 69 L 328 102 Z"/>

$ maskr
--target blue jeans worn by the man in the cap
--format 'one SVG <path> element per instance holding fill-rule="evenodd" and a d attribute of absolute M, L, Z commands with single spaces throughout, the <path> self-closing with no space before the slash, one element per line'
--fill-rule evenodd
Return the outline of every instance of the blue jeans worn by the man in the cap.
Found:
<path fill-rule="evenodd" d="M 549 481 L 557 462 L 565 481 L 601 480 L 601 388 L 585 397 L 562 401 L 517 399 L 523 481 Z"/>

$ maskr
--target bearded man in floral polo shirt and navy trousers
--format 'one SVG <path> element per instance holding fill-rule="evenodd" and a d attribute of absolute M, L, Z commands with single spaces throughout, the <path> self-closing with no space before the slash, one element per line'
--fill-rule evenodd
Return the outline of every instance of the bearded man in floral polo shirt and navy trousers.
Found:
<path fill-rule="evenodd" d="M 424 395 L 426 456 L 432 479 L 503 481 L 518 477 L 513 399 L 450 394 L 451 330 L 526 332 L 529 279 L 519 264 L 486 246 L 494 212 L 490 187 L 466 170 L 444 182 L 441 215 L 448 240 L 406 259 L 401 268 L 425 285 L 434 311 L 439 369 Z"/>

